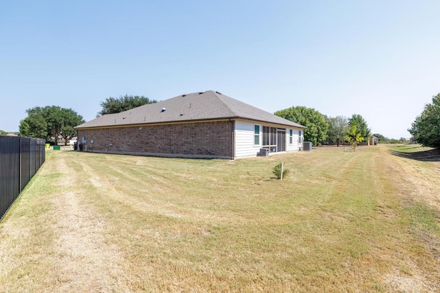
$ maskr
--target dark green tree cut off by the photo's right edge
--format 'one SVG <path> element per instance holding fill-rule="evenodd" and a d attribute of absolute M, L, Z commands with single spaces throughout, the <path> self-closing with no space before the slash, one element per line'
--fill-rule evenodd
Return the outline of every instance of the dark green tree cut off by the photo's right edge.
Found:
<path fill-rule="evenodd" d="M 432 97 L 408 129 L 414 139 L 425 146 L 440 148 L 440 93 Z"/>

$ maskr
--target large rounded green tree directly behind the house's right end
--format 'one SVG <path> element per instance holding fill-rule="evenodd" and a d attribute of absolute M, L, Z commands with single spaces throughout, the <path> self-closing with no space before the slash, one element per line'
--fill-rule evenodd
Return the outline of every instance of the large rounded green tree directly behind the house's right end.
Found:
<path fill-rule="evenodd" d="M 314 108 L 296 106 L 276 111 L 274 114 L 307 127 L 304 130 L 304 141 L 320 145 L 327 138 L 329 123 L 325 116 Z"/>

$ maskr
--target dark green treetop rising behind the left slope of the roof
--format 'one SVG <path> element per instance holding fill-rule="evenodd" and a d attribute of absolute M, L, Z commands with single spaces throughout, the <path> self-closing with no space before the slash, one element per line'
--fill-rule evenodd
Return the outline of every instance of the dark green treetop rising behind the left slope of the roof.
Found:
<path fill-rule="evenodd" d="M 108 97 L 104 102 L 101 102 L 102 110 L 98 112 L 96 117 L 106 114 L 120 113 L 145 104 L 153 104 L 157 102 L 157 100 L 148 99 L 148 97 L 144 97 L 143 95 L 121 95 L 118 98 Z"/>

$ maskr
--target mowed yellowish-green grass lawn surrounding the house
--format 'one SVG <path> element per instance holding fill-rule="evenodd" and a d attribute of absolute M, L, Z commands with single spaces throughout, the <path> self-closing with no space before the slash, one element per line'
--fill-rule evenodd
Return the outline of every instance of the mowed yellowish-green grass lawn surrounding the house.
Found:
<path fill-rule="evenodd" d="M 47 151 L 0 224 L 0 288 L 435 292 L 439 167 L 383 145 L 236 161 Z"/>

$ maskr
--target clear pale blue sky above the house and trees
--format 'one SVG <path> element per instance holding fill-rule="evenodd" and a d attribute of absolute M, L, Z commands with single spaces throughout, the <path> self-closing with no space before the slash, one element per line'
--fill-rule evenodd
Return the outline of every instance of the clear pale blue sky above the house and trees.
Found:
<path fill-rule="evenodd" d="M 440 1 L 0 0 L 0 129 L 34 106 L 214 90 L 406 131 L 440 92 Z"/>

